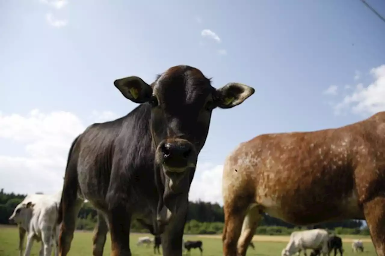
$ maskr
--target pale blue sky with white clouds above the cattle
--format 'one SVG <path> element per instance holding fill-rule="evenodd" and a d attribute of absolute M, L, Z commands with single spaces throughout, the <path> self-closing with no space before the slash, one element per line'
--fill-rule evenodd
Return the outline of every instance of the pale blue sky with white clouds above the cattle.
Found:
<path fill-rule="evenodd" d="M 385 2 L 367 2 L 385 15 Z M 191 199 L 221 202 L 221 165 L 242 141 L 385 110 L 385 23 L 359 0 L 113 3 L 0 3 L 6 191 L 59 190 L 72 139 L 136 107 L 113 81 L 137 75 L 151 83 L 174 65 L 199 68 L 216 88 L 236 81 L 256 90 L 214 111 Z"/>

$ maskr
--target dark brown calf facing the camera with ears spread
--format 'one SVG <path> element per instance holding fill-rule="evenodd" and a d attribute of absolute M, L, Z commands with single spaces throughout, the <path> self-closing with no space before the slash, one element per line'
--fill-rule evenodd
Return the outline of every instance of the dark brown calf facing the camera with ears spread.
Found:
<path fill-rule="evenodd" d="M 60 256 L 66 256 L 84 199 L 98 211 L 93 254 L 102 255 L 110 231 L 112 256 L 131 255 L 135 214 L 149 211 L 164 255 L 182 251 L 188 192 L 212 110 L 232 108 L 254 93 L 239 83 L 220 89 L 197 68 L 174 66 L 148 85 L 137 76 L 114 81 L 141 103 L 128 115 L 89 126 L 73 141 L 60 203 Z"/>

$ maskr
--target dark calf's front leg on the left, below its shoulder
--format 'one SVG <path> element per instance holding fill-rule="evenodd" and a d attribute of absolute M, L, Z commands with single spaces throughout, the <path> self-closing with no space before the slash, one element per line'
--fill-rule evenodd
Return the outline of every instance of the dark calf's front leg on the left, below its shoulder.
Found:
<path fill-rule="evenodd" d="M 111 256 L 131 256 L 131 213 L 125 206 L 115 206 L 109 213 Z"/>

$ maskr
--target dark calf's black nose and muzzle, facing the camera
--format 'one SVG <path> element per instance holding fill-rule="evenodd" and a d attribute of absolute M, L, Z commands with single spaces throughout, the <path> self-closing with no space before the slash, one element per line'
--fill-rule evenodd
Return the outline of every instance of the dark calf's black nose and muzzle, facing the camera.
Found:
<path fill-rule="evenodd" d="M 188 141 L 167 142 L 161 146 L 163 163 L 169 168 L 185 168 L 193 149 Z"/>

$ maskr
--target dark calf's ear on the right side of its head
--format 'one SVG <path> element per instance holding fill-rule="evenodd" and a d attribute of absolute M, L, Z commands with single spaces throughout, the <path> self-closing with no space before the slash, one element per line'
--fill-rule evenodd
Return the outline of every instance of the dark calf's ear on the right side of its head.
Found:
<path fill-rule="evenodd" d="M 216 105 L 219 108 L 232 108 L 253 95 L 254 88 L 241 83 L 228 83 L 216 90 Z"/>

